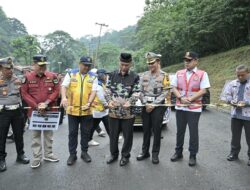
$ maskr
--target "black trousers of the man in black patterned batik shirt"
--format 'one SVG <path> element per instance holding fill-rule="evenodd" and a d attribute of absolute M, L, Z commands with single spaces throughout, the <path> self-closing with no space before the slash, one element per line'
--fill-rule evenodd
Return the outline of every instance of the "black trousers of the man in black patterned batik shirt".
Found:
<path fill-rule="evenodd" d="M 119 155 L 118 140 L 119 133 L 122 130 L 124 143 L 122 146 L 122 157 L 129 158 L 130 151 L 133 145 L 133 124 L 135 119 L 116 119 L 109 117 L 109 138 L 110 138 L 110 153 L 112 156 Z"/>

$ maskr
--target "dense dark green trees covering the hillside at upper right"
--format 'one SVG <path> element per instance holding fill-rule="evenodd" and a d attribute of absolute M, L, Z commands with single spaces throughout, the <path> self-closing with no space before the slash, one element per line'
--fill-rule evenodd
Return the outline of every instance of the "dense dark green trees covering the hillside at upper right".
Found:
<path fill-rule="evenodd" d="M 147 0 L 138 22 L 139 47 L 163 55 L 164 65 L 184 52 L 201 56 L 250 43 L 248 0 Z"/>

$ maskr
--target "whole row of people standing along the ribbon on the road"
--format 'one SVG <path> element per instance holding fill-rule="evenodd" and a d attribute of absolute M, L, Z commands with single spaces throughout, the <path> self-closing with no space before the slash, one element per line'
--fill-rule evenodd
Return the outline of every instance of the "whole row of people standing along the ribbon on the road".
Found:
<path fill-rule="evenodd" d="M 94 130 L 102 121 L 110 139 L 110 157 L 107 164 L 112 164 L 119 157 L 118 139 L 122 132 L 124 143 L 121 150 L 120 166 L 129 163 L 133 145 L 134 109 L 141 101 L 143 122 L 142 151 L 138 161 L 149 158 L 150 140 L 153 133 L 152 163 L 159 163 L 161 145 L 161 125 L 166 112 L 165 103 L 170 103 L 171 92 L 176 96 L 176 148 L 171 157 L 175 162 L 183 158 L 183 145 L 186 127 L 189 127 L 189 166 L 196 165 L 199 149 L 199 118 L 202 112 L 202 96 L 210 88 L 208 74 L 197 68 L 198 54 L 187 52 L 183 57 L 185 68 L 177 71 L 170 81 L 169 75 L 161 70 L 161 55 L 146 53 L 148 71 L 141 76 L 131 70 L 133 59 L 129 53 L 121 53 L 119 68 L 111 73 L 105 69 L 91 72 L 92 59 L 83 56 L 79 68 L 69 71 L 64 80 L 47 71 L 47 57 L 33 57 L 34 70 L 20 81 L 13 74 L 11 58 L 0 60 L 0 171 L 6 170 L 6 137 L 10 124 L 13 128 L 17 148 L 17 162 L 28 164 L 29 159 L 23 151 L 23 112 L 21 98 L 30 108 L 40 114 L 53 110 L 61 88 L 61 106 L 68 115 L 68 165 L 77 160 L 78 132 L 80 129 L 81 158 L 89 163 L 88 142 Z M 238 79 L 230 83 L 222 98 L 232 108 L 232 143 L 228 160 L 238 158 L 240 137 L 244 126 L 248 147 L 250 147 L 250 79 L 249 69 L 240 65 L 236 69 Z M 43 138 L 42 138 L 43 135 Z M 42 139 L 44 139 L 42 146 Z M 58 162 L 52 151 L 52 131 L 32 131 L 32 168 L 38 168 L 42 159 Z M 44 147 L 44 154 L 42 153 Z M 250 165 L 250 149 L 248 151 Z"/>

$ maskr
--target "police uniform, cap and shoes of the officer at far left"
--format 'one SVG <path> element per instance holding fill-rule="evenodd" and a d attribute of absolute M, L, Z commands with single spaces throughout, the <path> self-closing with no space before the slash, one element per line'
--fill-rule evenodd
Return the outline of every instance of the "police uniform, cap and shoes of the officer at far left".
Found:
<path fill-rule="evenodd" d="M 12 70 L 11 58 L 0 60 L 0 68 Z M 9 71 L 13 72 L 13 71 Z M 11 73 L 7 77 L 5 73 L 0 76 L 0 172 L 7 169 L 5 158 L 5 143 L 10 125 L 14 133 L 14 140 L 17 151 L 17 162 L 28 164 L 29 159 L 24 155 L 23 147 L 23 123 L 24 117 L 21 111 L 20 97 L 21 81 Z"/>

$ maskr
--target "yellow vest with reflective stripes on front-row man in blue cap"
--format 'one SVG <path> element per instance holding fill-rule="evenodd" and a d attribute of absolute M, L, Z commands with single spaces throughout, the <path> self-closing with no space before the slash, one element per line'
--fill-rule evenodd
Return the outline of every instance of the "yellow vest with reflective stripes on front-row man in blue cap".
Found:
<path fill-rule="evenodd" d="M 91 115 L 92 109 L 83 111 L 82 106 L 88 103 L 92 92 L 95 76 L 86 74 L 83 78 L 79 72 L 70 74 L 70 84 L 67 89 L 68 108 L 67 113 L 74 116 Z"/>

